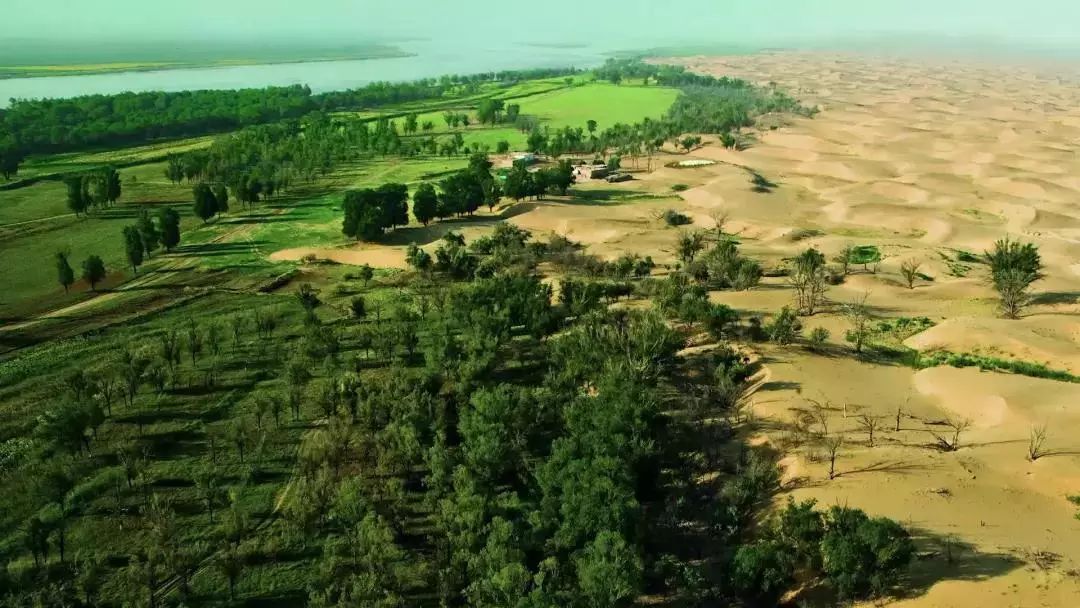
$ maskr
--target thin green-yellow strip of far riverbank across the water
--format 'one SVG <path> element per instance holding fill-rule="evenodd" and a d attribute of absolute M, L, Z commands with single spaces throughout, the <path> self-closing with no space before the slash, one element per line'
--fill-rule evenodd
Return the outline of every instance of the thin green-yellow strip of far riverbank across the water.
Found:
<path fill-rule="evenodd" d="M 0 81 L 22 78 L 56 78 L 67 76 L 118 75 L 147 71 L 176 71 L 202 68 L 315 64 L 325 62 L 363 62 L 416 57 L 418 54 L 400 49 L 378 53 L 345 54 L 295 59 L 218 59 L 210 62 L 131 62 L 96 65 L 0 66 Z"/>

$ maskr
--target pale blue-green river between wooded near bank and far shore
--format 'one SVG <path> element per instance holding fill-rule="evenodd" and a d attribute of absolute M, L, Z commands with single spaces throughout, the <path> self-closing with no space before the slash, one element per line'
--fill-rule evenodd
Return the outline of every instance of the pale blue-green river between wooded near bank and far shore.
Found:
<path fill-rule="evenodd" d="M 75 97 L 124 91 L 192 91 L 258 89 L 307 84 L 315 93 L 341 91 L 376 81 L 403 81 L 446 73 L 477 73 L 539 67 L 592 67 L 610 49 L 598 46 L 448 45 L 441 42 L 399 44 L 414 53 L 388 59 L 300 62 L 256 66 L 222 66 L 84 76 L 54 76 L 0 80 L 0 108 L 9 99 Z"/>

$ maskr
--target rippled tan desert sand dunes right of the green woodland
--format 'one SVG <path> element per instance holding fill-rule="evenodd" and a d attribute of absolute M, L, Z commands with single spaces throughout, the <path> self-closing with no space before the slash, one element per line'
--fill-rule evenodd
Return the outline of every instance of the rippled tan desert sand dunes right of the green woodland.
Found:
<path fill-rule="evenodd" d="M 1080 374 L 1080 71 L 793 53 L 684 63 L 778 82 L 822 109 L 760 134 L 742 152 L 696 151 L 753 168 L 778 188 L 755 193 L 738 171 L 715 168 L 685 193 L 689 210 L 730 213 L 744 248 L 765 259 L 808 245 L 826 254 L 877 245 L 886 258 L 879 271 L 856 273 L 828 297 L 868 295 L 877 315 L 937 323 L 909 338 L 910 348 Z M 985 267 L 958 260 L 959 251 L 981 254 L 1007 234 L 1037 243 L 1047 267 L 1020 321 L 997 319 Z M 906 259 L 922 261 L 933 281 L 907 289 L 899 278 Z M 774 311 L 791 294 L 781 280 L 768 283 L 715 297 Z M 806 325 L 828 328 L 834 342 L 847 328 L 835 311 Z M 856 505 L 916 531 L 923 555 L 910 596 L 894 605 L 1080 606 L 1080 522 L 1066 500 L 1080 494 L 1080 386 L 974 369 L 915 371 L 836 349 L 820 356 L 767 347 L 769 382 L 755 411 L 770 422 L 764 428 L 779 429 L 762 438 L 787 454 L 791 495 Z M 845 437 L 832 481 L 821 441 L 793 441 L 792 423 L 811 400 L 829 408 L 829 433 Z M 859 421 L 864 414 L 881 420 L 874 447 Z M 935 435 L 951 434 L 949 420 L 970 420 L 956 451 L 935 446 Z M 1032 462 L 1030 432 L 1043 425 L 1050 455 Z"/>

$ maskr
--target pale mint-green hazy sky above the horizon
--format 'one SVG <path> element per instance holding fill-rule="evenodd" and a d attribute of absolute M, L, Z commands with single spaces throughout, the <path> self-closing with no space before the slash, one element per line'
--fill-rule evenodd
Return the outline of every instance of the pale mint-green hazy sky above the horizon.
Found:
<path fill-rule="evenodd" d="M 477 38 L 799 45 L 878 35 L 1080 46 L 1080 0 L 2 0 L 0 41 Z M 0 57 L 0 64 L 2 64 Z"/>

